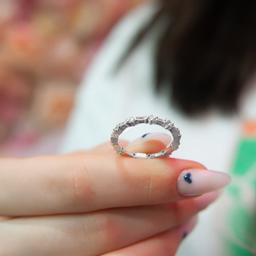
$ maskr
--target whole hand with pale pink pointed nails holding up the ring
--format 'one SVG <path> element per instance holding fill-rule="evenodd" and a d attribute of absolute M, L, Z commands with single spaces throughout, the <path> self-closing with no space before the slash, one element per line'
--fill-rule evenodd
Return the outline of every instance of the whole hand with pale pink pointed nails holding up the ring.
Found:
<path fill-rule="evenodd" d="M 119 156 L 109 144 L 0 160 L 0 255 L 174 255 L 195 225 L 189 219 L 219 193 L 188 195 L 229 182 L 197 162 Z"/>

